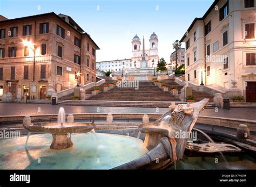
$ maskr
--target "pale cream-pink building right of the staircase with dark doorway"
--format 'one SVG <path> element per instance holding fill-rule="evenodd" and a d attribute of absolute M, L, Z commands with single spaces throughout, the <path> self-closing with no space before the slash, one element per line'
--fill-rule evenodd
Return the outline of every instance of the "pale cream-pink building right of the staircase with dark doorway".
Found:
<path fill-rule="evenodd" d="M 215 0 L 180 40 L 186 43 L 186 81 L 230 89 L 256 102 L 256 1 Z"/>

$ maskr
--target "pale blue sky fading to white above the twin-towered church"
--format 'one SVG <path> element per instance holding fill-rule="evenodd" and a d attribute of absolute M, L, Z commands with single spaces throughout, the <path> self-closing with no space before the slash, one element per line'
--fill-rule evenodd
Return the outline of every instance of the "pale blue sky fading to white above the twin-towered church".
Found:
<path fill-rule="evenodd" d="M 172 43 L 180 40 L 195 17 L 213 0 L 0 0 L 0 15 L 12 19 L 55 12 L 69 15 L 99 46 L 97 61 L 130 59 L 132 38 L 158 35 L 158 55 L 170 61 Z M 184 47 L 184 44 L 183 46 Z"/>

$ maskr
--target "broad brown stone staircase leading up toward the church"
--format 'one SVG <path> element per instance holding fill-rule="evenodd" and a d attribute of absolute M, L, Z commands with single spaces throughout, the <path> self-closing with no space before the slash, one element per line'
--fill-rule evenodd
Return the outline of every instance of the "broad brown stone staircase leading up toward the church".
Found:
<path fill-rule="evenodd" d="M 179 99 L 156 87 L 152 81 L 139 81 L 139 88 L 118 88 L 101 92 L 88 100 L 122 100 L 147 102 L 179 102 Z"/>

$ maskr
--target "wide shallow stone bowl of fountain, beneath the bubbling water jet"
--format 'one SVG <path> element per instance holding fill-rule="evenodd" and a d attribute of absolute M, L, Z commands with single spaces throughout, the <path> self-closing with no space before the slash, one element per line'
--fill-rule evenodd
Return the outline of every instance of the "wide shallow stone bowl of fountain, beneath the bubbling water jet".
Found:
<path fill-rule="evenodd" d="M 87 133 L 93 130 L 95 124 L 92 123 L 65 123 L 63 126 L 58 123 L 34 123 L 23 125 L 30 132 L 44 132 L 50 134 Z"/>

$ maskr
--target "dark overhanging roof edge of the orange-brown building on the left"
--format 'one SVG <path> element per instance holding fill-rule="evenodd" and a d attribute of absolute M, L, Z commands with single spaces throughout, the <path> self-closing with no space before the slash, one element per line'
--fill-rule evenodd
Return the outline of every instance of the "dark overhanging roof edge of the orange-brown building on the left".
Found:
<path fill-rule="evenodd" d="M 49 13 L 42 13 L 40 15 L 33 15 L 33 16 L 26 16 L 26 17 L 21 17 L 21 18 L 14 18 L 14 19 L 8 19 L 8 20 L 3 20 L 3 21 L 0 21 L 0 24 L 1 23 L 8 23 L 10 21 L 18 21 L 18 20 L 23 20 L 23 19 L 31 19 L 31 18 L 38 18 L 38 17 L 44 17 L 44 16 L 54 16 L 56 17 L 57 19 L 63 21 L 63 23 L 65 23 L 66 25 L 69 25 L 71 28 L 73 28 L 73 30 L 75 30 L 77 33 L 81 34 L 81 35 L 87 35 L 88 38 L 90 38 L 90 40 L 93 42 L 93 44 L 96 45 L 97 49 L 100 49 L 97 44 L 95 43 L 95 41 L 92 40 L 92 38 L 90 37 L 90 35 L 88 33 L 81 33 L 79 32 L 78 30 L 76 30 L 76 28 L 74 28 L 73 26 L 71 26 L 68 22 L 66 22 L 65 20 L 63 20 L 61 17 L 59 17 L 58 15 L 56 15 L 55 12 L 49 12 Z M 64 15 L 65 16 L 65 15 Z M 71 18 L 72 19 L 72 18 Z"/>

